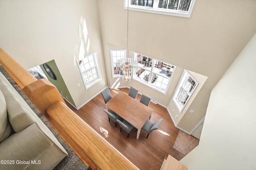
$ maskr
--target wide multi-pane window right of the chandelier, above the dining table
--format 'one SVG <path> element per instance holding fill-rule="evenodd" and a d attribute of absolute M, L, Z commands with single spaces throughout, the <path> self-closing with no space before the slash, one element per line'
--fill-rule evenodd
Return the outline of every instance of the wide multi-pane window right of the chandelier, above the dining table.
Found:
<path fill-rule="evenodd" d="M 166 94 L 175 66 L 138 53 L 134 53 L 134 59 L 138 67 L 133 79 Z"/>

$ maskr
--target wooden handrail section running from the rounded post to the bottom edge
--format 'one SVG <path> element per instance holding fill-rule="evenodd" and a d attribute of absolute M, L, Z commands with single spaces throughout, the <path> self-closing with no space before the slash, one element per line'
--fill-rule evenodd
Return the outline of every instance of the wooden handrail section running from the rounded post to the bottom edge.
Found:
<path fill-rule="evenodd" d="M 108 142 L 80 117 L 70 115 L 70 111 L 70 108 L 62 102 L 56 102 L 46 109 L 46 113 L 60 123 L 65 133 L 72 139 L 76 139 L 74 143 L 91 158 L 98 169 L 138 169 L 112 145 L 106 145 Z"/>

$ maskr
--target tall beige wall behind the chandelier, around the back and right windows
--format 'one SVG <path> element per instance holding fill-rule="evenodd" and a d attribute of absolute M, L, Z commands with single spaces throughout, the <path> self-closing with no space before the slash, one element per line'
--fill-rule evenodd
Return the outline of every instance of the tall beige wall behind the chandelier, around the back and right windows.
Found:
<path fill-rule="evenodd" d="M 107 66 L 110 65 L 111 49 L 126 49 L 127 12 L 122 0 L 97 2 Z M 168 106 L 174 123 L 190 133 L 206 114 L 212 88 L 256 32 L 255 20 L 255 0 L 196 0 L 190 18 L 130 10 L 129 57 L 135 51 L 174 64 L 177 69 L 166 95 L 134 80 L 129 83 L 118 81 L 119 86 L 133 85 L 139 92 Z M 200 92 L 193 96 L 194 100 L 179 113 L 172 95 L 183 69 L 208 78 Z M 106 72 L 112 86 L 117 79 L 112 78 L 110 67 Z M 190 109 L 194 113 L 189 113 Z"/>

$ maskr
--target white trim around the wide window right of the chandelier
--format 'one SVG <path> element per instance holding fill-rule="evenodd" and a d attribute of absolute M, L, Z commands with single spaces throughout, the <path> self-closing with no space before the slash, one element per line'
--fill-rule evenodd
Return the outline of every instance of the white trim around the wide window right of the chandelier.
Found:
<path fill-rule="evenodd" d="M 133 57 L 134 57 L 134 53 L 136 53 L 136 52 L 133 52 Z M 136 54 L 140 54 L 140 53 L 136 53 Z M 140 54 L 140 55 L 142 55 L 142 54 Z M 148 56 L 146 56 L 146 55 L 143 55 L 143 56 L 148 57 Z M 152 57 L 149 57 L 149 58 L 151 58 L 151 59 L 153 59 L 153 60 L 155 60 L 155 61 L 156 61 L 156 60 L 159 61 L 158 59 L 154 59 L 154 58 L 152 58 Z M 166 63 L 166 62 L 164 62 L 164 63 Z M 172 65 L 172 64 L 171 64 L 171 65 Z M 172 66 L 174 66 L 174 65 L 172 65 Z M 168 82 L 168 85 L 167 85 L 167 87 L 166 87 L 166 90 L 161 90 L 160 88 L 157 88 L 156 86 L 153 86 L 153 85 L 151 85 L 150 83 L 145 82 L 145 81 L 141 80 L 140 78 L 137 78 L 137 76 L 136 76 L 136 71 L 133 71 L 132 79 L 135 80 L 135 81 L 137 81 L 137 82 L 140 82 L 140 83 L 142 83 L 142 84 L 144 84 L 144 85 L 146 85 L 146 86 L 148 86 L 148 87 L 150 87 L 150 88 L 152 88 L 152 89 L 154 89 L 154 90 L 156 90 L 156 91 L 158 91 L 158 92 L 160 92 L 160 93 L 162 93 L 162 94 L 166 94 L 167 91 L 168 91 L 168 89 L 169 89 L 169 86 L 170 86 L 170 84 L 171 84 L 172 76 L 173 76 L 173 74 L 174 74 L 174 72 L 175 72 L 175 68 L 176 68 L 176 66 L 174 66 L 174 68 L 173 68 L 172 75 L 170 76 L 170 80 L 169 80 L 169 82 Z M 148 80 L 151 80 L 152 74 L 153 74 L 153 72 L 151 71 Z"/>

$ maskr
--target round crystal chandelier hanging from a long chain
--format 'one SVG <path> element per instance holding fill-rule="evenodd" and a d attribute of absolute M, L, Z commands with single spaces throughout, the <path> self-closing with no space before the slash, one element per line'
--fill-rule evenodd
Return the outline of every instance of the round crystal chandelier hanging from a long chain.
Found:
<path fill-rule="evenodd" d="M 126 57 L 128 57 L 128 16 L 129 16 L 129 1 L 127 6 L 127 41 L 126 41 Z M 138 66 L 138 61 L 132 58 L 123 58 L 116 62 L 118 74 L 122 76 L 124 82 L 130 82 L 133 70 Z"/>

